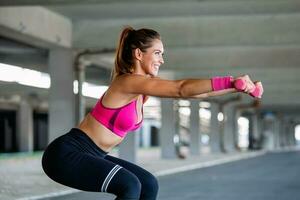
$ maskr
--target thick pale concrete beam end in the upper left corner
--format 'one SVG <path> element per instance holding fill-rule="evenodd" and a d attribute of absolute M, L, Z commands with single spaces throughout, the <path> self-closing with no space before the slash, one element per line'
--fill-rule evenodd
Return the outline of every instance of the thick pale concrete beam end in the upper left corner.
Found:
<path fill-rule="evenodd" d="M 70 48 L 72 23 L 43 7 L 0 7 L 0 35 L 41 48 Z"/>

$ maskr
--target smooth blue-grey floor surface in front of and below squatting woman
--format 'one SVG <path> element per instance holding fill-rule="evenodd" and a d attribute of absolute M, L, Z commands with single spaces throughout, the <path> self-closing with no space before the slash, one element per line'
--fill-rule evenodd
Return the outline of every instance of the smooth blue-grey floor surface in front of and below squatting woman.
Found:
<path fill-rule="evenodd" d="M 266 155 L 159 177 L 159 200 L 299 200 L 300 152 Z M 79 192 L 47 200 L 103 199 Z"/>

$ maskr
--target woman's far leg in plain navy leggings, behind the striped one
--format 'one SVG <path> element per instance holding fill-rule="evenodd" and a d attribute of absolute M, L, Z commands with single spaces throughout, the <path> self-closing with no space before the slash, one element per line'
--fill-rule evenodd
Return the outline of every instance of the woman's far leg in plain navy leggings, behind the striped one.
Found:
<path fill-rule="evenodd" d="M 107 155 L 105 159 L 122 166 L 138 177 L 142 186 L 140 199 L 156 199 L 158 192 L 158 182 L 156 177 L 153 176 L 150 172 L 131 162 L 110 155 Z"/>

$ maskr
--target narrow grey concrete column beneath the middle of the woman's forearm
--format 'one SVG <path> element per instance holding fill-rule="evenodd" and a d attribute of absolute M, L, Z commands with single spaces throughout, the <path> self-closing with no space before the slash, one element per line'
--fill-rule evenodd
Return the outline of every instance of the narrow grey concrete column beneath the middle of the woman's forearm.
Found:
<path fill-rule="evenodd" d="M 191 114 L 190 114 L 190 151 L 192 155 L 200 154 L 201 133 L 199 129 L 199 100 L 191 100 Z"/>

